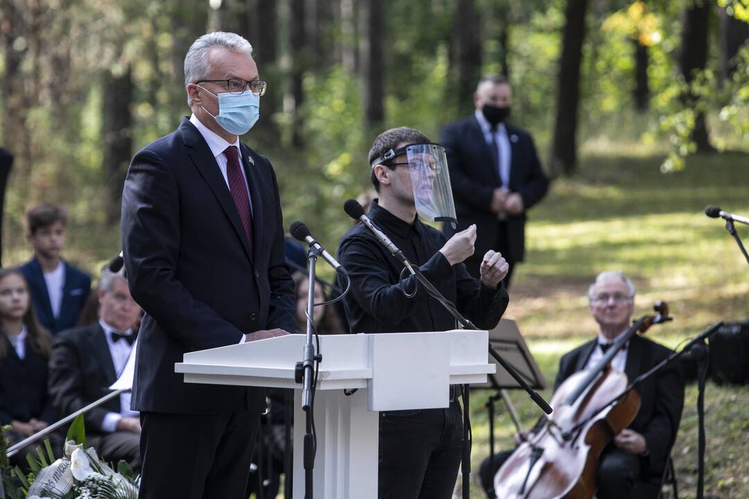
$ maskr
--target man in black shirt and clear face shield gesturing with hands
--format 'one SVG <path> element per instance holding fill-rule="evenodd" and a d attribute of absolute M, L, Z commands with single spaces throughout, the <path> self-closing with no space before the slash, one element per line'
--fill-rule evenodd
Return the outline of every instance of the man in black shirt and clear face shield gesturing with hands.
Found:
<path fill-rule="evenodd" d="M 447 240 L 422 222 L 422 218 L 454 213 L 452 198 L 449 202 L 437 199 L 437 192 L 443 189 L 436 189 L 439 182 L 435 177 L 446 168 L 439 151 L 441 146 L 430 144 L 414 129 L 401 127 L 380 134 L 369 151 L 372 183 L 379 194 L 369 218 L 462 314 L 479 328 L 491 329 L 509 301 L 502 284 L 507 273 L 504 258 L 488 251 L 483 255 L 481 278 L 472 278 L 462 262 L 473 254 L 476 227 Z M 449 192 L 446 179 L 443 186 Z M 401 279 L 401 263 L 362 223 L 343 237 L 339 261 L 351 277 L 351 292 L 344 303 L 352 333 L 455 328 L 453 316 L 431 299 L 423 286 L 416 287 L 416 278 Z M 344 283 L 339 280 L 339 284 Z M 448 408 L 380 412 L 378 497 L 451 498 L 462 436 L 461 408 L 454 387 Z"/>

